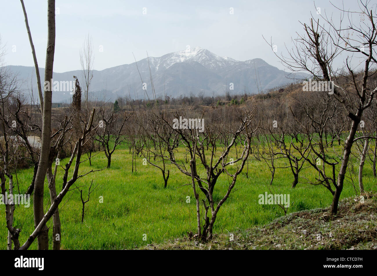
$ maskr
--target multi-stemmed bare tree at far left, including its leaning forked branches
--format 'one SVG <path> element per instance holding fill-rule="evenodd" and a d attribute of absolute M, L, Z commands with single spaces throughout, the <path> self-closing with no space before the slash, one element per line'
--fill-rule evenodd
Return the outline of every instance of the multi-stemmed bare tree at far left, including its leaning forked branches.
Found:
<path fill-rule="evenodd" d="M 25 6 L 23 5 L 22 1 L 21 4 L 23 6 L 25 20 L 26 20 L 26 28 L 29 34 L 29 40 L 31 42 L 31 35 L 30 30 L 27 24 Z M 32 46 L 33 48 L 33 46 Z M 44 95 L 41 98 L 41 103 L 43 103 L 43 115 L 42 115 L 42 129 L 41 129 L 41 150 L 38 159 L 38 167 L 35 173 L 35 180 L 34 185 L 34 232 L 29 236 L 27 241 L 20 246 L 20 242 L 18 241 L 18 236 L 20 234 L 21 229 L 14 229 L 10 223 L 7 223 L 7 228 L 9 233 L 11 234 L 11 239 L 14 243 L 14 249 L 28 249 L 29 246 L 35 239 L 38 239 L 38 249 L 48 249 L 48 228 L 46 227 L 46 222 L 54 216 L 53 223 L 54 223 L 54 234 L 60 233 L 60 219 L 58 217 L 58 205 L 60 204 L 61 200 L 63 199 L 64 195 L 69 190 L 69 187 L 74 184 L 74 182 L 86 175 L 78 175 L 80 163 L 82 162 L 81 155 L 83 152 L 83 146 L 86 143 L 86 138 L 89 135 L 89 132 L 92 128 L 93 116 L 94 116 L 94 109 L 90 116 L 90 120 L 85 123 L 83 129 L 83 135 L 78 138 L 77 142 L 75 143 L 75 147 L 72 150 L 71 157 L 69 163 L 66 164 L 65 173 L 63 177 L 63 190 L 57 195 L 55 189 L 55 176 L 57 167 L 55 166 L 55 171 L 52 173 L 51 164 L 54 158 L 54 150 L 57 150 L 58 155 L 60 153 L 61 145 L 66 138 L 67 133 L 67 122 L 70 121 L 71 115 L 69 118 L 65 118 L 62 129 L 58 130 L 56 133 L 51 134 L 51 121 L 52 121 L 52 114 L 51 114 L 51 102 L 52 102 L 52 73 L 53 73 L 53 63 L 54 63 L 54 52 L 55 52 L 55 1 L 48 0 L 48 41 L 47 41 L 47 51 L 46 51 L 46 64 L 45 64 L 45 81 L 44 81 Z M 36 64 L 36 62 L 35 62 Z M 37 64 L 36 64 L 37 66 Z M 39 78 L 37 76 L 37 78 Z M 41 94 L 40 94 L 41 97 Z M 41 104 L 42 105 L 42 104 Z M 18 104 L 20 107 L 20 104 Z M 18 108 L 19 112 L 20 108 Z M 16 111 L 17 114 L 17 111 Z M 5 120 L 2 120 L 3 123 Z M 4 127 L 3 127 L 4 129 Z M 23 130 L 19 131 L 23 136 Z M 57 138 L 55 140 L 55 144 L 51 148 L 51 140 L 52 138 Z M 54 138 L 54 139 L 55 139 Z M 24 138 L 25 140 L 25 138 Z M 65 140 L 66 141 L 66 140 Z M 68 172 L 71 167 L 71 164 L 76 158 L 76 163 L 74 166 L 74 172 L 72 178 L 68 180 Z M 49 169 L 49 170 L 48 170 Z M 93 170 L 91 171 L 93 172 Z M 49 189 L 50 189 L 50 197 L 51 197 L 51 206 L 46 214 L 44 214 L 44 206 L 43 206 L 43 194 L 44 194 L 44 179 L 46 177 L 46 173 L 48 175 L 49 181 Z M 12 186 L 12 176 L 8 173 L 9 183 Z M 2 176 L 2 193 L 5 193 L 5 179 Z M 33 184 L 33 183 L 32 183 Z M 7 220 L 11 219 L 10 217 L 10 210 L 12 210 L 11 205 L 6 205 L 6 218 Z M 13 216 L 13 215 L 12 215 Z M 53 248 L 59 249 L 60 242 L 54 242 Z"/>

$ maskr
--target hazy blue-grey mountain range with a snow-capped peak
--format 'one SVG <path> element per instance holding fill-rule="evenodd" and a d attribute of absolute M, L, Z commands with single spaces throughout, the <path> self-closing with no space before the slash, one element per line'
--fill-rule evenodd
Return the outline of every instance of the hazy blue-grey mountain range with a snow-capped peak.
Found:
<path fill-rule="evenodd" d="M 27 79 L 33 74 L 34 67 L 10 66 L 18 72 L 19 78 Z M 124 64 L 102 71 L 93 71 L 91 91 L 100 100 L 115 100 L 119 97 L 144 98 L 145 92 L 152 95 L 150 72 L 157 96 L 194 95 L 204 91 L 207 95 L 225 94 L 233 83 L 231 94 L 241 94 L 246 88 L 250 93 L 258 92 L 293 80 L 286 78 L 284 71 L 266 63 L 260 58 L 247 61 L 237 61 L 230 57 L 220 57 L 207 49 L 200 47 L 188 48 L 163 55 L 162 57 L 144 58 L 136 63 Z M 139 70 L 139 71 L 138 71 Z M 140 74 L 139 74 L 140 73 Z M 44 79 L 44 69 L 40 69 L 41 80 Z M 54 73 L 54 81 L 73 80 L 73 75 L 80 81 L 81 71 Z M 141 75 L 141 78 L 140 78 Z M 290 76 L 293 77 L 292 75 Z M 297 76 L 300 78 L 300 76 Z M 34 85 L 35 76 L 33 76 Z M 42 81 L 43 83 L 43 81 Z M 81 81 L 83 83 L 83 81 Z M 146 90 L 143 90 L 143 83 Z M 103 91 L 107 92 L 104 93 Z M 69 101 L 71 95 L 67 92 L 54 92 L 53 101 Z"/>

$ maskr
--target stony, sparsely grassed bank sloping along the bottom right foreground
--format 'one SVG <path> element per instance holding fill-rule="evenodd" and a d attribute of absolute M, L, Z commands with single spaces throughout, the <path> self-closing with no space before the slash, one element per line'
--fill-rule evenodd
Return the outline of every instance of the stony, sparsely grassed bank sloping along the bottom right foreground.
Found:
<path fill-rule="evenodd" d="M 290 213 L 266 225 L 221 233 L 205 244 L 184 237 L 148 244 L 142 249 L 377 249 L 375 197 L 365 196 L 363 203 L 360 199 L 343 199 L 336 216 L 330 216 L 328 211 L 329 208 L 317 208 Z"/>

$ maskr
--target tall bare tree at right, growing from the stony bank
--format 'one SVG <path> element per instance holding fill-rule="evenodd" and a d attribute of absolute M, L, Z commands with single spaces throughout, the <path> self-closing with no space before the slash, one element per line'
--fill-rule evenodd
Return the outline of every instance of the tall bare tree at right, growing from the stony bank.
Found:
<path fill-rule="evenodd" d="M 341 20 L 334 23 L 332 18 L 320 15 L 325 24 L 320 25 L 319 19 L 310 25 L 303 24 L 305 35 L 299 35 L 294 40 L 295 46 L 288 57 L 280 58 L 282 62 L 290 69 L 291 72 L 307 71 L 315 81 L 331 82 L 333 86 L 330 97 L 339 101 L 345 110 L 346 116 L 351 120 L 349 135 L 343 146 L 343 156 L 340 161 L 340 169 L 336 181 L 333 181 L 334 193 L 331 204 L 331 213 L 337 213 L 340 193 L 343 190 L 343 183 L 348 166 L 351 148 L 356 139 L 357 128 L 362 119 L 363 112 L 369 108 L 373 102 L 374 94 L 377 87 L 368 78 L 371 66 L 376 64 L 375 59 L 375 39 L 377 28 L 375 25 L 376 14 L 369 8 L 369 1 L 360 1 L 360 11 L 352 12 L 339 8 Z M 360 15 L 367 19 L 360 21 L 357 26 L 352 21 L 352 16 Z M 344 16 L 349 18 L 348 26 L 343 27 Z M 351 32 L 356 32 L 356 36 L 350 36 Z M 272 43 L 270 44 L 272 47 Z M 349 79 L 353 90 L 349 89 L 347 84 L 341 83 L 340 77 L 342 72 L 334 68 L 333 61 L 341 53 L 351 54 L 352 58 L 358 60 L 356 63 L 363 63 L 363 74 L 361 79 L 357 79 L 354 69 L 351 69 L 351 62 L 348 58 L 345 60 L 348 69 Z M 357 54 L 357 55 L 356 55 Z"/>

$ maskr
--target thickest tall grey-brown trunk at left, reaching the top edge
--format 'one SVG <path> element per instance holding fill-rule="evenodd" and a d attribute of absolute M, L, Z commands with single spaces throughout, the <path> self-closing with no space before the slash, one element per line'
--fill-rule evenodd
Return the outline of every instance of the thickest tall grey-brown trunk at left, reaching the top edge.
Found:
<path fill-rule="evenodd" d="M 48 23 L 48 38 L 46 51 L 46 64 L 44 71 L 44 81 L 49 81 L 49 89 L 44 89 L 44 103 L 43 103 L 43 121 L 42 121 L 42 135 L 41 135 L 41 151 L 38 164 L 37 175 L 34 183 L 34 227 L 37 227 L 44 215 L 43 209 L 43 192 L 44 179 L 46 178 L 46 171 L 48 166 L 48 158 L 51 143 L 51 101 L 52 101 L 52 70 L 54 65 L 55 53 L 55 0 L 48 0 L 47 10 Z M 45 87 L 47 88 L 47 87 Z M 46 225 L 43 231 L 38 236 L 38 249 L 48 250 L 48 228 Z"/>

